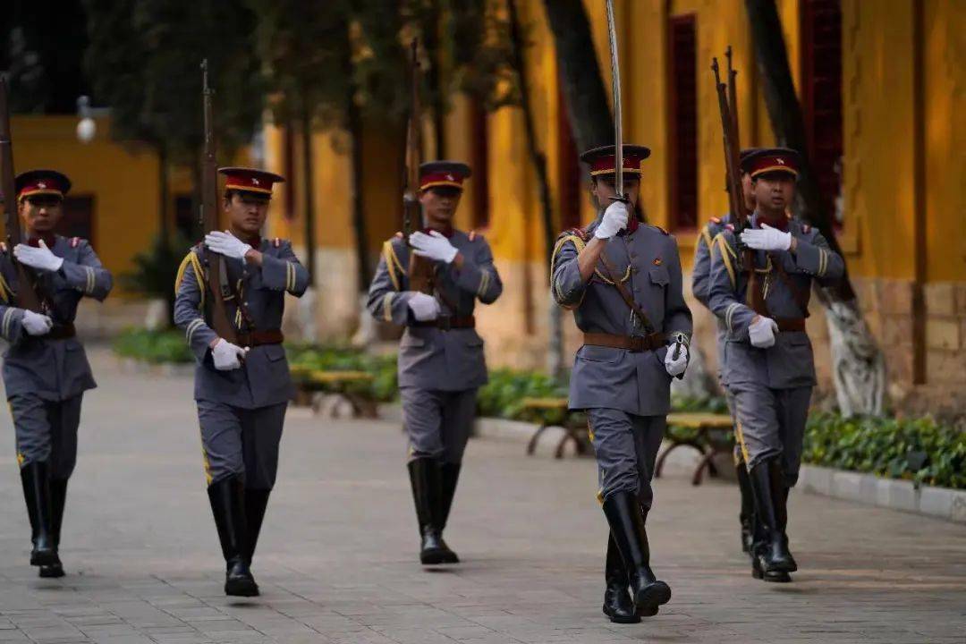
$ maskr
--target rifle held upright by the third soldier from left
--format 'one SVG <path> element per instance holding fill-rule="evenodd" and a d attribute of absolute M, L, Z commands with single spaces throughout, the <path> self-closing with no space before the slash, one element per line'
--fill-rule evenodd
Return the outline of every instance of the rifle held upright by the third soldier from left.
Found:
<path fill-rule="evenodd" d="M 410 44 L 410 119 L 406 128 L 406 175 L 403 182 L 403 238 L 410 243 L 412 220 L 422 221 L 419 204 L 419 164 L 422 163 L 422 113 L 419 105 L 419 59 L 418 42 Z M 434 287 L 433 265 L 410 251 L 410 290 L 432 295 Z"/>

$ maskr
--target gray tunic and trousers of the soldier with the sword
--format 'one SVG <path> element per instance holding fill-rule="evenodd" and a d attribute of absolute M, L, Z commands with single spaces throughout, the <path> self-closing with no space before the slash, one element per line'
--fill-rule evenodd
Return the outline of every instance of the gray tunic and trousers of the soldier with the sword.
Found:
<path fill-rule="evenodd" d="M 600 216 L 585 231 L 557 238 L 551 266 L 556 302 L 574 311 L 584 333 L 643 335 L 642 324 L 598 263 L 584 282 L 578 255 L 593 237 Z M 605 253 L 620 280 L 656 332 L 690 341 L 691 311 L 682 292 L 677 241 L 655 226 L 633 223 L 607 242 Z M 652 501 L 651 477 L 670 409 L 668 347 L 632 351 L 584 345 L 570 378 L 570 407 L 586 409 L 600 478 L 598 497 L 617 491 L 638 495 L 645 510 Z"/>

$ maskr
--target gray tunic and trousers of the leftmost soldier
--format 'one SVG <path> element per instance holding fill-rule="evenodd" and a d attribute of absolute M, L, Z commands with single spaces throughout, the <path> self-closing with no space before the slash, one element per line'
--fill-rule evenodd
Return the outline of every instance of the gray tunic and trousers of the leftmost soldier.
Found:
<path fill-rule="evenodd" d="M 56 272 L 35 271 L 50 298 L 51 320 L 71 324 L 82 297 L 103 301 L 113 285 L 111 273 L 81 238 L 56 236 L 51 252 L 64 258 Z M 16 459 L 21 466 L 48 462 L 50 476 L 68 479 L 77 460 L 77 428 L 83 392 L 97 386 L 83 345 L 76 338 L 31 336 L 16 308 L 18 285 L 10 256 L 0 255 L 0 335 L 10 343 L 4 354 L 3 381 L 14 416 Z"/>

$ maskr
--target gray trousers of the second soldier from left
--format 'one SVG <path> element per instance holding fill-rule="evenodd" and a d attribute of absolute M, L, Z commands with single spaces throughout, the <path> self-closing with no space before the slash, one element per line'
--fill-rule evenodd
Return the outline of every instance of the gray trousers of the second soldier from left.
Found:
<path fill-rule="evenodd" d="M 249 490 L 271 490 L 278 472 L 278 444 L 289 404 L 254 409 L 213 401 L 197 404 L 208 484 L 241 476 Z"/>

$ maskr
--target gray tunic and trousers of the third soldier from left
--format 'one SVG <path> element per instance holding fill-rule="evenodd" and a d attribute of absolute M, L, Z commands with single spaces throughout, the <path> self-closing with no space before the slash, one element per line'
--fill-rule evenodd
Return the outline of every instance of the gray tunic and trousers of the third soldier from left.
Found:
<path fill-rule="evenodd" d="M 474 328 L 444 328 L 469 318 L 476 300 L 490 304 L 503 292 L 486 239 L 453 231 L 450 243 L 463 267 L 437 263 L 440 326 L 415 325 L 409 308 L 410 251 L 401 236 L 387 240 L 369 287 L 368 309 L 377 320 L 406 326 L 399 343 L 399 389 L 411 458 L 463 461 L 476 412 L 476 390 L 487 382 L 483 339 Z"/>

